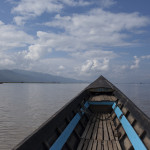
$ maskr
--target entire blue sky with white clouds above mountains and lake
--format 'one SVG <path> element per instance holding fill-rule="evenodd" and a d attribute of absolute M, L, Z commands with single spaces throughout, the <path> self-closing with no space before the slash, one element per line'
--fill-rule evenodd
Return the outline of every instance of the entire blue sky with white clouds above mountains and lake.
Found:
<path fill-rule="evenodd" d="M 150 82 L 149 0 L 1 0 L 0 69 Z"/>

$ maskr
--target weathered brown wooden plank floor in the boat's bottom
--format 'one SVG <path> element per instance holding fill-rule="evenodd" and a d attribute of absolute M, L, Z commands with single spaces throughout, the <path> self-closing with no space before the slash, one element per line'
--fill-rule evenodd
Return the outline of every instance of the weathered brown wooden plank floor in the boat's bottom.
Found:
<path fill-rule="evenodd" d="M 121 150 L 109 114 L 95 114 L 88 122 L 77 150 Z"/>

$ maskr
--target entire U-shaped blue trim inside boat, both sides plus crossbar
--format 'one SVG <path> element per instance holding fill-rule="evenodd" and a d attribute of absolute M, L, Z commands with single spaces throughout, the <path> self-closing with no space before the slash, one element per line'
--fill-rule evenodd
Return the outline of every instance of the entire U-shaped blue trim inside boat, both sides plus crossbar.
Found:
<path fill-rule="evenodd" d="M 135 150 L 147 150 L 129 121 L 126 119 L 126 117 L 123 115 L 122 111 L 118 106 L 116 106 L 115 102 L 106 101 L 106 102 L 95 102 L 95 101 L 89 101 L 84 104 L 85 109 L 89 107 L 89 105 L 112 105 L 112 108 L 114 112 L 116 113 L 118 119 L 120 120 L 129 140 L 131 141 L 133 147 Z M 74 128 L 80 121 L 82 115 L 84 115 L 84 109 L 80 109 L 82 112 L 81 114 L 77 113 L 74 118 L 70 121 L 68 126 L 64 129 L 64 131 L 61 133 L 61 135 L 58 137 L 58 139 L 55 141 L 55 143 L 51 146 L 49 150 L 61 150 L 66 141 L 68 140 L 69 136 L 73 132 Z"/>

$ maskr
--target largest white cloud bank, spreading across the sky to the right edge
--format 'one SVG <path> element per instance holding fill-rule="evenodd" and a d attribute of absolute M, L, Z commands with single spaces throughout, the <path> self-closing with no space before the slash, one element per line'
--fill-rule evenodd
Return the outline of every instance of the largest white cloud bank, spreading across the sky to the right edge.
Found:
<path fill-rule="evenodd" d="M 100 51 L 101 47 L 126 46 L 127 35 L 123 30 L 130 31 L 140 28 L 148 23 L 148 18 L 140 17 L 137 13 L 113 14 L 102 9 L 90 13 L 73 16 L 56 15 L 55 19 L 45 25 L 63 28 L 62 33 L 37 32 L 37 41 L 26 50 L 25 58 L 39 59 L 45 52 L 66 51 L 73 57 L 86 57 L 92 55 L 102 57 L 116 55 L 112 51 Z M 43 45 L 43 46 L 42 46 Z M 46 50 L 49 49 L 49 50 Z M 113 56 L 114 57 L 114 56 Z"/>

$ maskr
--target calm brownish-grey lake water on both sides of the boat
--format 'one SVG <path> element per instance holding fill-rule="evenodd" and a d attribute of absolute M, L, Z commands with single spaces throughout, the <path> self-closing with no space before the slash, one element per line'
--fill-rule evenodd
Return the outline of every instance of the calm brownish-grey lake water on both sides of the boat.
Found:
<path fill-rule="evenodd" d="M 12 149 L 88 84 L 0 84 L 0 150 Z M 150 84 L 116 84 L 150 117 Z"/>

